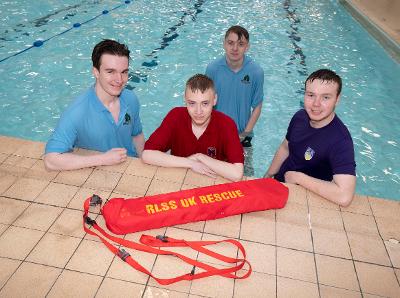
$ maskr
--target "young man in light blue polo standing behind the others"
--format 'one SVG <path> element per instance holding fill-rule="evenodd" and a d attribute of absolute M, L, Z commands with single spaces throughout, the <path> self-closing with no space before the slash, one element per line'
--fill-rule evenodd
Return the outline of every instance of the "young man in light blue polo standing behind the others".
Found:
<path fill-rule="evenodd" d="M 251 147 L 264 97 L 264 71 L 245 55 L 249 47 L 247 30 L 232 26 L 225 33 L 225 55 L 206 69 L 206 75 L 216 86 L 216 109 L 235 121 L 244 147 Z"/>

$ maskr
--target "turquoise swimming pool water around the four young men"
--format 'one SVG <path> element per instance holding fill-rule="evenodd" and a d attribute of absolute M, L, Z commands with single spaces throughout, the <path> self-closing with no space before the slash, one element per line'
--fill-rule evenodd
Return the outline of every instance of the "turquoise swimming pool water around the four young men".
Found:
<path fill-rule="evenodd" d="M 400 66 L 336 1 L 7 1 L 0 11 L 0 134 L 46 141 L 68 103 L 93 83 L 93 45 L 115 38 L 131 50 L 128 88 L 149 136 L 182 105 L 186 79 L 222 54 L 223 32 L 241 24 L 249 54 L 265 70 L 254 175 L 264 174 L 301 106 L 307 74 L 329 67 L 344 81 L 337 112 L 355 143 L 357 192 L 398 197 Z"/>

